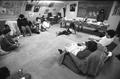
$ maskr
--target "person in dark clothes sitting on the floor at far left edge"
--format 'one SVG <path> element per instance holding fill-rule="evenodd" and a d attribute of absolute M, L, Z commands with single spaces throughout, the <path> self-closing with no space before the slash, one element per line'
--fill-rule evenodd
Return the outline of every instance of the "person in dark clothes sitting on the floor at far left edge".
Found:
<path fill-rule="evenodd" d="M 18 40 L 13 40 L 13 38 L 10 36 L 10 29 L 3 29 L 2 35 L 1 35 L 1 49 L 4 51 L 12 51 L 19 47 Z"/>

